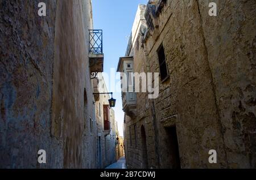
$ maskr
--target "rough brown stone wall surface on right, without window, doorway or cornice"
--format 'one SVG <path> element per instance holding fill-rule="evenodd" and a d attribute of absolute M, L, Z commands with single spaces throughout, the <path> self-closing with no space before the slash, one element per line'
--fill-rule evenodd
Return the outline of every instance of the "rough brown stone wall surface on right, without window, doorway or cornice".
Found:
<path fill-rule="evenodd" d="M 155 100 L 164 167 L 164 128 L 174 125 L 182 168 L 255 167 L 255 3 L 216 3 L 212 17 L 209 1 L 167 1 L 160 36 L 147 41 L 151 71 L 159 71 L 163 43 L 170 74 Z M 217 164 L 209 164 L 209 149 L 216 149 Z"/>

